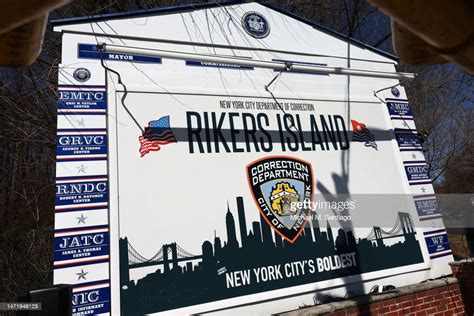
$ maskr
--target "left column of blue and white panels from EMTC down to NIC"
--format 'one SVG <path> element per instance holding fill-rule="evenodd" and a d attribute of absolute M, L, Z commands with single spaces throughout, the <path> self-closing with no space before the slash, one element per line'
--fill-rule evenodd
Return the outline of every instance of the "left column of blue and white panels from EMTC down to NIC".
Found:
<path fill-rule="evenodd" d="M 59 87 L 55 283 L 73 284 L 73 315 L 110 312 L 105 86 Z"/>

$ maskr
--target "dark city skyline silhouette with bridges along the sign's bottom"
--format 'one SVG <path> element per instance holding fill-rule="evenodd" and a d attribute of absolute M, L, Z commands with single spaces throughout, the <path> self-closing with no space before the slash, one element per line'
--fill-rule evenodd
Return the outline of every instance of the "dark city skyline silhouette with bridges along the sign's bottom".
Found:
<path fill-rule="evenodd" d="M 125 315 L 144 315 L 202 304 L 257 292 L 341 278 L 365 272 L 423 262 L 410 214 L 399 212 L 389 231 L 374 226 L 364 238 L 352 231 L 338 229 L 336 236 L 329 222 L 322 230 L 313 212 L 300 237 L 290 244 L 276 234 L 263 217 L 247 230 L 244 201 L 237 197 L 240 243 L 234 215 L 227 205 L 226 241 L 214 233 L 214 241 L 205 240 L 200 254 L 192 254 L 177 243 L 163 245 L 154 256 L 144 258 L 128 241 L 121 238 L 121 307 Z M 335 238 L 334 238 L 335 237 Z M 388 244 L 384 240 L 398 238 Z M 284 265 L 295 261 L 355 253 L 356 264 L 346 268 L 301 273 L 291 278 L 268 282 L 248 282 L 229 287 L 226 275 L 235 271 Z M 130 270 L 157 266 L 139 280 L 130 280 Z"/>

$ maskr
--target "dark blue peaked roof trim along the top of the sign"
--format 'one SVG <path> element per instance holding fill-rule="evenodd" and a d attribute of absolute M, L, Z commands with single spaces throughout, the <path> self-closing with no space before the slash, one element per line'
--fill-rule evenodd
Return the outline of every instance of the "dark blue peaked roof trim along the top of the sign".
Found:
<path fill-rule="evenodd" d="M 173 14 L 173 13 L 182 13 L 182 12 L 190 12 L 190 11 L 196 11 L 196 10 L 202 10 L 202 9 L 210 9 L 210 8 L 215 8 L 219 6 L 229 6 L 229 5 L 235 5 L 235 4 L 241 4 L 241 3 L 246 3 L 249 1 L 242 1 L 242 0 L 222 0 L 222 1 L 216 1 L 216 2 L 210 2 L 210 3 L 199 3 L 199 4 L 183 4 L 183 5 L 177 5 L 177 6 L 169 6 L 169 7 L 160 7 L 160 8 L 155 8 L 155 9 L 144 9 L 144 10 L 135 10 L 135 11 L 130 11 L 130 12 L 120 12 L 120 13 L 108 13 L 108 14 L 100 14 L 100 15 L 93 15 L 93 16 L 81 16 L 81 17 L 73 17 L 73 18 L 66 18 L 66 19 L 58 19 L 58 20 L 52 20 L 49 23 L 55 27 L 55 26 L 62 26 L 62 25 L 73 25 L 73 24 L 81 24 L 81 23 L 90 23 L 90 22 L 101 22 L 101 21 L 107 21 L 107 20 L 118 20 L 118 19 L 125 19 L 125 18 L 138 18 L 138 17 L 145 17 L 145 16 L 150 16 L 150 15 L 161 15 L 161 14 Z M 286 16 L 289 16 L 293 19 L 296 19 L 302 23 L 305 23 L 307 25 L 310 25 L 311 27 L 324 32 L 328 35 L 334 36 L 336 38 L 345 40 L 350 42 L 351 44 L 367 49 L 369 51 L 372 51 L 378 55 L 381 55 L 383 57 L 389 58 L 394 61 L 398 61 L 398 57 L 395 55 L 392 55 L 390 53 L 387 53 L 381 49 L 378 49 L 376 47 L 373 47 L 371 45 L 365 44 L 355 38 L 346 36 L 342 33 L 339 33 L 337 31 L 334 31 L 326 26 L 323 26 L 319 23 L 310 21 L 302 16 L 299 16 L 297 14 L 294 14 L 292 12 L 289 12 L 287 10 L 282 9 L 281 7 L 275 5 L 275 4 L 270 4 L 270 3 L 265 3 L 265 2 L 260 2 L 260 1 L 254 1 L 256 3 L 259 3 L 260 5 L 263 5 L 269 9 L 275 10 L 281 14 L 284 14 Z"/>

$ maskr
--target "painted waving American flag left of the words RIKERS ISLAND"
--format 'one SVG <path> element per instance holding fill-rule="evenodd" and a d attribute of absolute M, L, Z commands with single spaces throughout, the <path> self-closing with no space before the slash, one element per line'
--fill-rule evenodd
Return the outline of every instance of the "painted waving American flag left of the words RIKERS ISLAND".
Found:
<path fill-rule="evenodd" d="M 169 115 L 163 116 L 159 120 L 150 121 L 148 127 L 145 127 L 145 132 L 138 138 L 138 140 L 140 141 L 139 151 L 141 157 L 145 156 L 150 151 L 160 150 L 160 145 L 177 143 L 170 128 Z"/>

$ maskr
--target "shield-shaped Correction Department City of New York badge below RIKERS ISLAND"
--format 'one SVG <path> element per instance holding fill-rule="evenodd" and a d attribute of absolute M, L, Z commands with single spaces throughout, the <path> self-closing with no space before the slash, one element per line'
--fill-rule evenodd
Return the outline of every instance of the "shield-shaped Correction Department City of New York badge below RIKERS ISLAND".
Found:
<path fill-rule="evenodd" d="M 311 212 L 308 203 L 313 197 L 311 164 L 293 157 L 266 157 L 247 165 L 247 179 L 268 225 L 288 242 L 295 242 Z M 301 203 L 304 201 L 306 205 Z"/>

